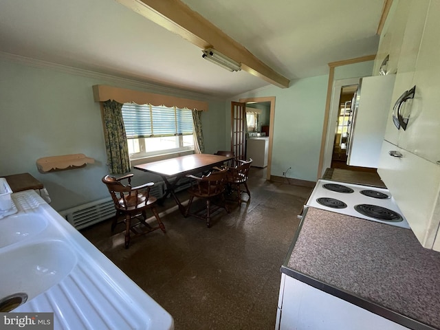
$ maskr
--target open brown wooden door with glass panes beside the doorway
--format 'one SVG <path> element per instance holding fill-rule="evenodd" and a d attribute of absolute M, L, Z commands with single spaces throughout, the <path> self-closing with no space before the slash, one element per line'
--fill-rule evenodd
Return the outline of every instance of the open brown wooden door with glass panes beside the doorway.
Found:
<path fill-rule="evenodd" d="M 246 159 L 246 104 L 231 102 L 231 151 Z"/>

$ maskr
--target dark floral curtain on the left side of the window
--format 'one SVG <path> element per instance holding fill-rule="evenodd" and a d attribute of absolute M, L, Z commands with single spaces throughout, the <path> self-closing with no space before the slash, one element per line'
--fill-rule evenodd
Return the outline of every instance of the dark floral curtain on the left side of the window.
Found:
<path fill-rule="evenodd" d="M 127 173 L 131 170 L 129 147 L 126 142 L 122 103 L 115 100 L 102 102 L 107 165 L 111 174 Z"/>

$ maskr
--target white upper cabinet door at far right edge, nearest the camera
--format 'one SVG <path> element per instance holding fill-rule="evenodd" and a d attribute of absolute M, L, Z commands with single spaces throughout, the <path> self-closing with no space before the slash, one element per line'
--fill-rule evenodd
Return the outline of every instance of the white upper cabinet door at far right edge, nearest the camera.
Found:
<path fill-rule="evenodd" d="M 420 3 L 424 3 L 423 0 Z M 417 1 L 419 5 L 419 1 Z M 436 163 L 440 161 L 440 1 L 430 1 L 415 65 L 415 98 L 399 146 Z"/>

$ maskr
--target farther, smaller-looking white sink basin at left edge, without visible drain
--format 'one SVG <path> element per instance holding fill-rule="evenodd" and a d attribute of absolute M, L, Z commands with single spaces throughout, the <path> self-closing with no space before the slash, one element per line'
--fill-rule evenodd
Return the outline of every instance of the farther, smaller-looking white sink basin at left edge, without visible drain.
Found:
<path fill-rule="evenodd" d="M 36 213 L 10 215 L 0 219 L 0 248 L 39 234 L 47 227 L 47 220 Z"/>

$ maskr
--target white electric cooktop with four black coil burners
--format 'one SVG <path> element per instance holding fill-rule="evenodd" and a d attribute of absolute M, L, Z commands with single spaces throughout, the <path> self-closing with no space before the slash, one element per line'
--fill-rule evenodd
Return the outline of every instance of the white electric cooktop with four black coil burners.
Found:
<path fill-rule="evenodd" d="M 326 186 L 337 191 L 329 190 L 325 188 Z M 345 190 L 347 192 L 343 192 Z M 306 206 L 401 228 L 410 228 L 391 193 L 384 188 L 320 179 L 311 192 Z M 377 219 L 376 216 L 383 216 L 384 219 Z"/>

